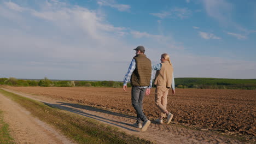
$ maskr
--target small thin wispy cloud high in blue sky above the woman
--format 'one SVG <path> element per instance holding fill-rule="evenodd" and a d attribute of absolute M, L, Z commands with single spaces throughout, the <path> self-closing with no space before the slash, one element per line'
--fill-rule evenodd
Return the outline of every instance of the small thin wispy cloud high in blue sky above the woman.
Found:
<path fill-rule="evenodd" d="M 192 15 L 192 11 L 187 8 L 173 8 L 170 11 L 162 11 L 161 13 L 150 13 L 160 19 L 173 18 L 185 19 Z"/>

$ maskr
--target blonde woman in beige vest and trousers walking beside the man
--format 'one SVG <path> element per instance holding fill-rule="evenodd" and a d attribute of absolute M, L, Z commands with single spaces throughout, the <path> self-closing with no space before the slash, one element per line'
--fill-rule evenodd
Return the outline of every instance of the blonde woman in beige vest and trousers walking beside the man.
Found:
<path fill-rule="evenodd" d="M 156 70 L 155 74 L 155 104 L 161 110 L 159 119 L 155 122 L 162 124 L 162 118 L 167 115 L 167 124 L 172 121 L 173 114 L 166 110 L 167 95 L 170 88 L 172 88 L 172 94 L 174 90 L 174 77 L 172 63 L 170 62 L 170 56 L 167 53 L 161 55 L 161 63 L 153 65 L 152 69 Z"/>

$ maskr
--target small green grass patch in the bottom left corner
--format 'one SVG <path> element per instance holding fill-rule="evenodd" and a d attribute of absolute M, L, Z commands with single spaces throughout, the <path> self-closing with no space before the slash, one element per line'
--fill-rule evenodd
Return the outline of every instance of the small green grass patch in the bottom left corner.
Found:
<path fill-rule="evenodd" d="M 9 125 L 3 121 L 3 111 L 0 110 L 0 143 L 14 143 L 9 134 Z"/>

